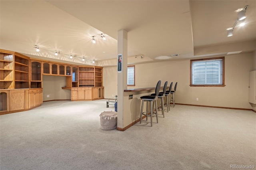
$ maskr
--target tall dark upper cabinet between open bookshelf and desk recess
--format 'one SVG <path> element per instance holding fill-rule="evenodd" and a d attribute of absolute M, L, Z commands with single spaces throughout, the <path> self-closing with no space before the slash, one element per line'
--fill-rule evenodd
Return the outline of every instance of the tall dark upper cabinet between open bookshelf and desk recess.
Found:
<path fill-rule="evenodd" d="M 30 61 L 30 88 L 42 88 L 42 62 Z"/>

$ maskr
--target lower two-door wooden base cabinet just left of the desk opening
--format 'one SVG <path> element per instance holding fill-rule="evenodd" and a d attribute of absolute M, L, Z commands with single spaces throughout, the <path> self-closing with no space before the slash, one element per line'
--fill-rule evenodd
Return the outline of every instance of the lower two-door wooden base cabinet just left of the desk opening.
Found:
<path fill-rule="evenodd" d="M 42 89 L 30 89 L 28 92 L 29 109 L 42 104 Z"/>

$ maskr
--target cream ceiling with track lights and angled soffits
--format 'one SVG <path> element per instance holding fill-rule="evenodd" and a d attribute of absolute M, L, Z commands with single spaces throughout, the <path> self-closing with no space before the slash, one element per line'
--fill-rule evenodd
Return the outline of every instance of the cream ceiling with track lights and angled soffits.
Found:
<path fill-rule="evenodd" d="M 247 24 L 236 26 L 227 37 L 226 29 L 238 18 L 235 11 L 246 5 Z M 60 62 L 92 64 L 95 59 L 98 65 L 113 65 L 108 61 L 116 63 L 121 29 L 128 32 L 128 63 L 159 61 L 155 57 L 162 55 L 180 54 L 172 60 L 256 49 L 256 0 L 1 0 L 0 14 L 1 49 Z M 107 40 L 98 38 L 100 34 Z M 60 51 L 58 56 L 55 51 Z"/>

